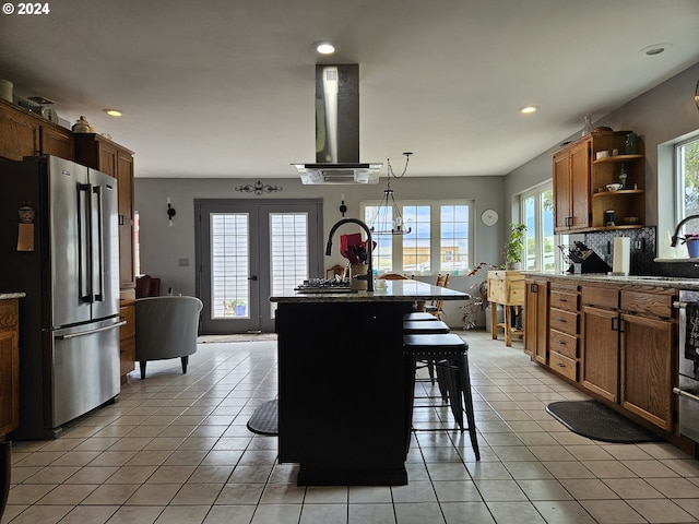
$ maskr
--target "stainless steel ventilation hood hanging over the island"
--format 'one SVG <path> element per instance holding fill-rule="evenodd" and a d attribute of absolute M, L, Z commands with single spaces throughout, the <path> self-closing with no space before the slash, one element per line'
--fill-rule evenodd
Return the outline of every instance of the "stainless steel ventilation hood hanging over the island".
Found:
<path fill-rule="evenodd" d="M 316 66 L 316 163 L 301 182 L 378 183 L 383 164 L 359 162 L 359 66 Z"/>

